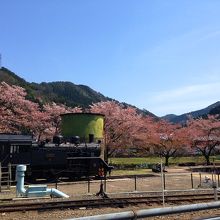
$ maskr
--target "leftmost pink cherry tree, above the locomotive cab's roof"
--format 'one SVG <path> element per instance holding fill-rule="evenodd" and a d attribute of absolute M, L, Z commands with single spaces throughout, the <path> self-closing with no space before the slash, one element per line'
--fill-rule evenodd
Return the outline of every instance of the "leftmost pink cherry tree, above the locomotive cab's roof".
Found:
<path fill-rule="evenodd" d="M 0 84 L 0 129 L 1 132 L 30 132 L 34 116 L 39 112 L 37 103 L 26 100 L 25 89 Z"/>

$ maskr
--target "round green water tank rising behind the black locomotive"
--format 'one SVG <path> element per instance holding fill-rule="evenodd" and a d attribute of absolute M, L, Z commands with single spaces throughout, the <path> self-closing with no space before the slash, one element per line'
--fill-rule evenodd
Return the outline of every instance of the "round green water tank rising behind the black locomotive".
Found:
<path fill-rule="evenodd" d="M 102 140 L 104 115 L 94 113 L 67 113 L 61 115 L 61 134 L 64 137 L 79 136 L 85 142 Z"/>

